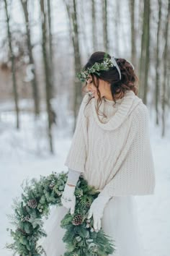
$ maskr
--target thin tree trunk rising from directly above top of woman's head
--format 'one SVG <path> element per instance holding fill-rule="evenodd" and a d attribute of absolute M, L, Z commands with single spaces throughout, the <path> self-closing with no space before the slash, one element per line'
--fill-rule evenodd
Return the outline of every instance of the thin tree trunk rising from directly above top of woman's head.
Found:
<path fill-rule="evenodd" d="M 107 0 L 102 1 L 104 51 L 108 51 Z"/>

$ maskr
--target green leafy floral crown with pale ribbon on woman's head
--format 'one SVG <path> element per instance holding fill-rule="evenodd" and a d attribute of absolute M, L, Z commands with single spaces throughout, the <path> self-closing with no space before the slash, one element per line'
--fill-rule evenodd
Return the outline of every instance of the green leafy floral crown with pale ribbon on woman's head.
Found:
<path fill-rule="evenodd" d="M 94 73 L 100 75 L 99 71 L 108 70 L 109 67 L 116 67 L 121 80 L 120 68 L 118 67 L 114 56 L 112 56 L 111 59 L 104 57 L 104 61 L 102 63 L 95 62 L 92 67 L 88 67 L 86 70 L 82 69 L 81 72 L 77 73 L 77 77 L 81 82 L 85 82 L 86 80 L 88 80 L 89 74 Z"/>

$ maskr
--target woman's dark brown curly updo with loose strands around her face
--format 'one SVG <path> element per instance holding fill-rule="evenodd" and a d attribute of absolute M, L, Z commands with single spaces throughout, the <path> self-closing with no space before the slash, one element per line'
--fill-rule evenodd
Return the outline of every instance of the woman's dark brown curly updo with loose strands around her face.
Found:
<path fill-rule="evenodd" d="M 95 62 L 101 63 L 104 61 L 104 56 L 106 56 L 106 52 L 104 51 L 96 51 L 94 54 L 91 54 L 89 61 L 87 61 L 86 65 L 84 65 L 83 69 L 86 70 L 88 67 L 92 67 Z M 107 58 L 111 59 L 111 56 L 107 54 Z M 97 95 L 99 96 L 97 99 L 97 112 L 99 111 L 99 106 L 102 103 L 102 98 L 99 92 L 99 79 L 109 82 L 110 90 L 112 93 L 113 101 L 116 103 L 117 95 L 120 95 L 122 98 L 125 95 L 127 90 L 133 90 L 135 95 L 138 94 L 138 77 L 136 76 L 133 67 L 131 64 L 125 59 L 115 59 L 117 61 L 117 65 L 120 68 L 121 72 L 121 80 L 119 73 L 117 72 L 116 67 L 109 67 L 107 71 L 100 71 L 100 75 L 91 74 L 92 82 L 94 86 L 97 88 Z M 94 80 L 94 76 L 97 78 L 97 82 Z M 86 88 L 87 82 L 83 87 L 83 91 Z M 91 101 L 90 97 L 89 101 Z M 88 103 L 89 103 L 88 101 Z M 87 104 L 88 104 L 87 103 Z M 86 104 L 86 105 L 87 105 Z M 104 115 L 105 116 L 105 115 Z"/>

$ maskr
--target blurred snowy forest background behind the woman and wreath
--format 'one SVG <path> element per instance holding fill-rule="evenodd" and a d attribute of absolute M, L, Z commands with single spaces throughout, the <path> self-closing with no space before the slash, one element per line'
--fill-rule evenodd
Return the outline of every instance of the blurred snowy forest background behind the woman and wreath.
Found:
<path fill-rule="evenodd" d="M 0 255 L 22 181 L 63 163 L 94 51 L 128 59 L 148 106 L 155 195 L 136 197 L 143 256 L 170 252 L 170 1 L 0 0 Z"/>

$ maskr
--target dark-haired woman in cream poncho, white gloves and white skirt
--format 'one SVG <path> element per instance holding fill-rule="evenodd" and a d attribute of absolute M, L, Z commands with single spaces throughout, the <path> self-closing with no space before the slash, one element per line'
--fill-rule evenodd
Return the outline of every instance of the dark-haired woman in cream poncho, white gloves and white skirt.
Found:
<path fill-rule="evenodd" d="M 65 162 L 68 180 L 62 195 L 64 207 L 53 211 L 51 218 L 57 221 L 52 230 L 47 225 L 50 243 L 46 239 L 46 245 L 42 245 L 49 256 L 65 252 L 64 231 L 59 223 L 68 209 L 74 213 L 74 190 L 82 174 L 99 190 L 88 216 L 94 219 L 94 231 L 102 227 L 115 240 L 115 256 L 143 255 L 134 195 L 153 194 L 155 176 L 148 109 L 137 96 L 138 78 L 129 61 L 97 51 L 79 79 L 86 80 L 89 93 L 81 102 Z"/>

